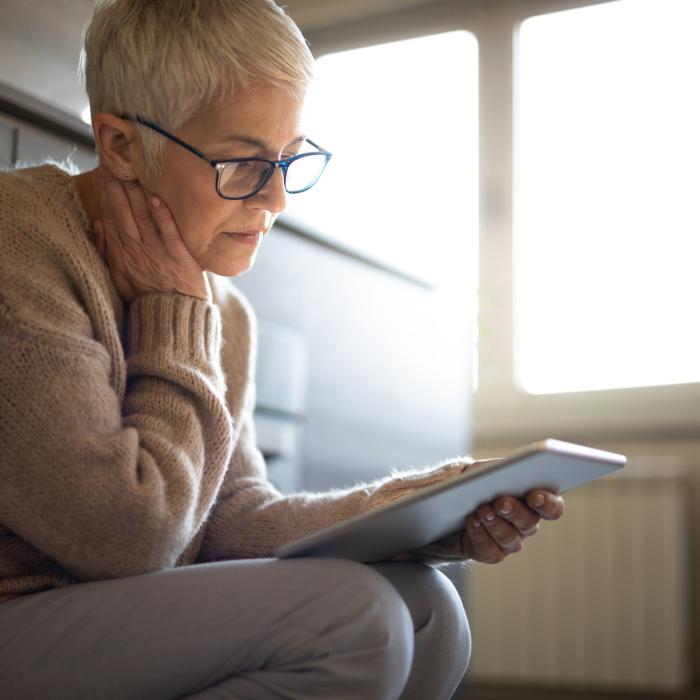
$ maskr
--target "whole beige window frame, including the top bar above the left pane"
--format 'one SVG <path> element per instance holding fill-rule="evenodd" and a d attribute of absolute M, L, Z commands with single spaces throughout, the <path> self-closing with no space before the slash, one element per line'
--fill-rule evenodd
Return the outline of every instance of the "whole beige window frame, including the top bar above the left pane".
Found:
<path fill-rule="evenodd" d="M 536 395 L 524 392 L 515 381 L 515 56 L 520 25 L 531 17 L 616 1 L 437 0 L 307 33 L 317 56 L 457 29 L 476 36 L 479 46 L 479 376 L 474 394 L 473 429 L 479 447 L 550 436 L 575 441 L 689 437 L 700 427 L 700 384 L 697 383 Z"/>

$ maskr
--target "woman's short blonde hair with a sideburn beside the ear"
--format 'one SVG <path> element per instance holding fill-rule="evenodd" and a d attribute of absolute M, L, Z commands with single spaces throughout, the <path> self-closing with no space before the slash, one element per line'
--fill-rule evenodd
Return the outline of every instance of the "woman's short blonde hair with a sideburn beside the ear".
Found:
<path fill-rule="evenodd" d="M 177 132 L 251 81 L 301 96 L 313 78 L 301 31 L 273 0 L 98 0 L 80 75 L 92 114 L 142 116 Z M 165 139 L 138 125 L 145 167 Z"/>

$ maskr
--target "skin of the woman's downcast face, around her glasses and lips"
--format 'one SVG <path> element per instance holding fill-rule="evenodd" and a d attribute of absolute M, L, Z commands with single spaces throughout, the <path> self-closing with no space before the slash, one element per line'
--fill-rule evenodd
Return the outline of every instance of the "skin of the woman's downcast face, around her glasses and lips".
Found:
<path fill-rule="evenodd" d="M 280 160 L 299 150 L 298 143 L 292 144 L 302 135 L 302 108 L 303 100 L 281 88 L 257 85 L 192 120 L 176 135 L 211 159 Z M 225 276 L 239 275 L 253 266 L 262 237 L 286 203 L 280 168 L 252 197 L 223 199 L 216 192 L 211 165 L 170 140 L 161 174 L 140 179 L 146 191 L 165 200 L 199 264 Z M 258 241 L 245 243 L 228 235 L 243 231 L 259 231 Z"/>

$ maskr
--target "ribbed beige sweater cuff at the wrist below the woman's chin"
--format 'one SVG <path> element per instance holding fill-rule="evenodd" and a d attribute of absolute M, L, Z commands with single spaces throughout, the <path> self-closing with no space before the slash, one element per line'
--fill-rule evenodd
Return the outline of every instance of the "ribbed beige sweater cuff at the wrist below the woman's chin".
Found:
<path fill-rule="evenodd" d="M 186 294 L 137 297 L 129 306 L 128 354 L 187 359 L 219 367 L 221 313 L 216 304 Z"/>

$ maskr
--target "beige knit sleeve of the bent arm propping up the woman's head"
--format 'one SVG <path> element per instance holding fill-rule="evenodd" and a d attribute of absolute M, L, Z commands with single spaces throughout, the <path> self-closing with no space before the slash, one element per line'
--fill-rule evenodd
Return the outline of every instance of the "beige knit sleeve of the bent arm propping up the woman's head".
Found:
<path fill-rule="evenodd" d="M 0 521 L 78 580 L 175 565 L 233 450 L 218 307 L 158 293 L 128 314 L 122 399 L 103 345 L 0 296 Z"/>

